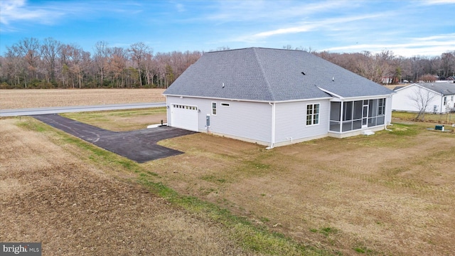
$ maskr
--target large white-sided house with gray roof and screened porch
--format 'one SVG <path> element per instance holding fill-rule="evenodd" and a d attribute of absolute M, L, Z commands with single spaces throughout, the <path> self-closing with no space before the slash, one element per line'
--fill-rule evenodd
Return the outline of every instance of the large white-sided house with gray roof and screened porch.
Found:
<path fill-rule="evenodd" d="M 390 123 L 392 90 L 301 50 L 204 53 L 164 92 L 168 125 L 272 148 Z"/>

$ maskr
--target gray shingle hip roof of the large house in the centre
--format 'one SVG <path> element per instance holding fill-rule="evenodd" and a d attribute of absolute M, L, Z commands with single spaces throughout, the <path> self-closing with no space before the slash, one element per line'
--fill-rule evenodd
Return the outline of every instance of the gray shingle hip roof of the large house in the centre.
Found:
<path fill-rule="evenodd" d="M 330 96 L 318 87 L 341 97 L 392 93 L 305 51 L 244 48 L 204 53 L 164 95 L 267 102 Z"/>

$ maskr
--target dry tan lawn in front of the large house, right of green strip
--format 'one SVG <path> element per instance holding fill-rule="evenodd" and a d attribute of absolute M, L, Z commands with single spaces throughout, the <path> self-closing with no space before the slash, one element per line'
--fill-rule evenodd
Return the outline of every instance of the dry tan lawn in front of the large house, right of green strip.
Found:
<path fill-rule="evenodd" d="M 269 151 L 207 134 L 163 143 L 186 149 L 159 161 L 171 187 L 304 244 L 344 255 L 455 250 L 453 135 L 384 131 Z"/>

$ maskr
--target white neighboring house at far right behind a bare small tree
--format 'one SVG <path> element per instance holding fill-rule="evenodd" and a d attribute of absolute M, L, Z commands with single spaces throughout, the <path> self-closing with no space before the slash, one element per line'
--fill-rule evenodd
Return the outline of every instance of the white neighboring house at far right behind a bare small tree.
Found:
<path fill-rule="evenodd" d="M 453 83 L 413 83 L 395 89 L 392 110 L 443 114 L 455 110 L 455 85 Z M 426 105 L 426 107 L 425 107 Z"/>

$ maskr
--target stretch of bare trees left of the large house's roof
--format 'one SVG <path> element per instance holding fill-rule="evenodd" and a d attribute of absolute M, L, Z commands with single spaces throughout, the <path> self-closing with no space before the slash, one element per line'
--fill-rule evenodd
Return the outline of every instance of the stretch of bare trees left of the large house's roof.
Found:
<path fill-rule="evenodd" d="M 54 38 L 25 38 L 0 56 L 0 88 L 166 88 L 200 58 L 200 51 L 155 53 L 95 44 L 93 53 Z"/>

